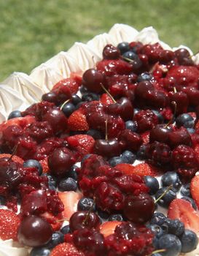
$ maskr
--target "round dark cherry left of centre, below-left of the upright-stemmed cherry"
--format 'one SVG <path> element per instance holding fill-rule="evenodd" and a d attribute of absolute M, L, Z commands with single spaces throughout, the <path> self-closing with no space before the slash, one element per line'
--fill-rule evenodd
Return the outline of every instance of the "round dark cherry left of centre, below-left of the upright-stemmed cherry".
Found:
<path fill-rule="evenodd" d="M 65 175 L 74 165 L 76 159 L 67 148 L 55 148 L 48 158 L 50 172 L 55 176 Z"/>

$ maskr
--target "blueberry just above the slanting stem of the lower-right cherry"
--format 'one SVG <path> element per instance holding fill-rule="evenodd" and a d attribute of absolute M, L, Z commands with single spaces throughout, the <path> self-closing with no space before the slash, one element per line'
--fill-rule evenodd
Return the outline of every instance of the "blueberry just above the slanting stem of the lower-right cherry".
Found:
<path fill-rule="evenodd" d="M 173 171 L 163 174 L 163 176 L 161 177 L 161 183 L 163 184 L 163 187 L 168 187 L 172 185 L 171 189 L 174 192 L 178 191 L 182 185 L 182 182 L 180 181 L 178 174 Z"/>

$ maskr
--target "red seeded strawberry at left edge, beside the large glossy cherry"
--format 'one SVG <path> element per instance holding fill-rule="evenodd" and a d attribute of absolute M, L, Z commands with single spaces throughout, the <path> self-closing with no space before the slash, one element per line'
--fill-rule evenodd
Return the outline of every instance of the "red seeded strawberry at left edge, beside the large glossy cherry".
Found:
<path fill-rule="evenodd" d="M 13 211 L 0 209 L 0 238 L 2 240 L 13 239 L 17 241 L 17 230 L 20 225 L 20 217 Z"/>

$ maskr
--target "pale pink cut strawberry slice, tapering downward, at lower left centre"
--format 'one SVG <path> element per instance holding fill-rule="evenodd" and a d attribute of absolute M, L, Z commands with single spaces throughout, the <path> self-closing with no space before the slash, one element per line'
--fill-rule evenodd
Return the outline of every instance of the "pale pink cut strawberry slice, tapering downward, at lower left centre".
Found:
<path fill-rule="evenodd" d="M 75 211 L 77 211 L 77 203 L 82 198 L 82 194 L 69 191 L 58 192 L 58 196 L 60 197 L 64 205 L 64 211 L 62 212 L 63 219 L 69 220 L 71 215 L 74 214 Z"/>

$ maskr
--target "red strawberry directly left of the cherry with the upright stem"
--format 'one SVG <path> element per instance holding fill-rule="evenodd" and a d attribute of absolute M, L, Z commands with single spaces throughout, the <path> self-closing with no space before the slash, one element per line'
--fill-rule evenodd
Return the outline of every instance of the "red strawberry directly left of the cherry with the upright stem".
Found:
<path fill-rule="evenodd" d="M 85 154 L 93 153 L 95 140 L 90 135 L 69 136 L 66 140 L 69 143 L 69 146 L 71 146 L 72 149 L 77 150 L 81 157 Z"/>

